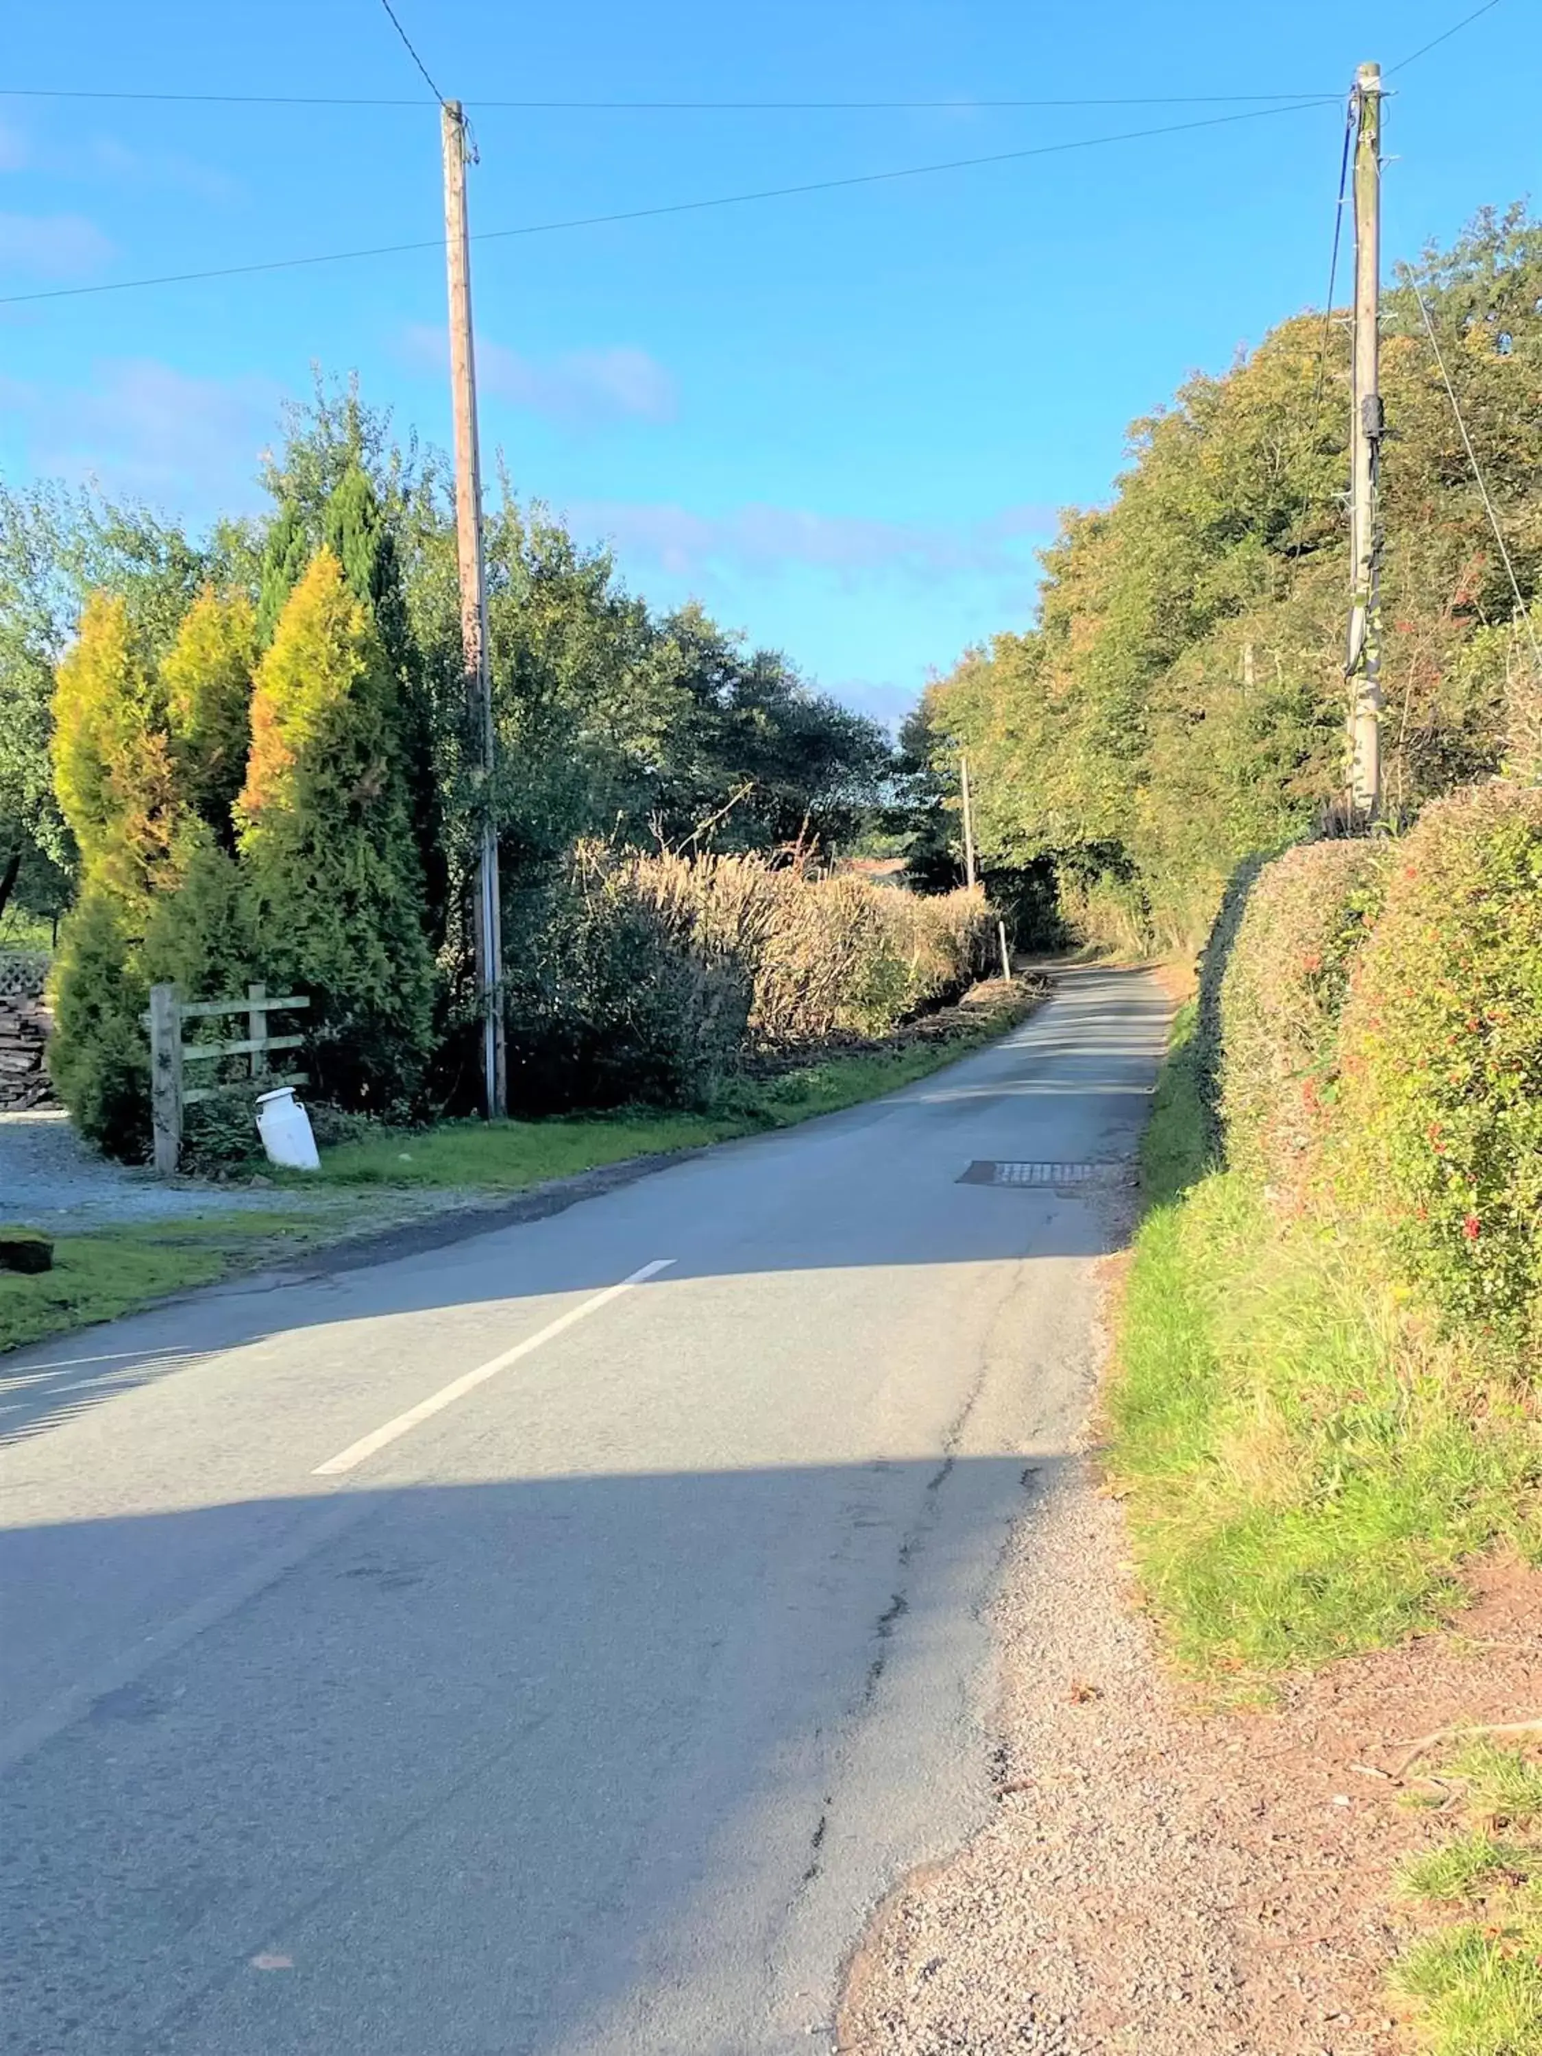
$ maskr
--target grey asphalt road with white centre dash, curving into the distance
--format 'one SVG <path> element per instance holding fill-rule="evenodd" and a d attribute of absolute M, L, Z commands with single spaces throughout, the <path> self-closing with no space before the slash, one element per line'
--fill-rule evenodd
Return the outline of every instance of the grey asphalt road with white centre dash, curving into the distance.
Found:
<path fill-rule="evenodd" d="M 4 1359 L 0 2046 L 829 2048 L 989 1805 L 1116 1234 L 960 1178 L 1129 1160 L 1166 1014 L 1077 970 L 888 1100 Z"/>

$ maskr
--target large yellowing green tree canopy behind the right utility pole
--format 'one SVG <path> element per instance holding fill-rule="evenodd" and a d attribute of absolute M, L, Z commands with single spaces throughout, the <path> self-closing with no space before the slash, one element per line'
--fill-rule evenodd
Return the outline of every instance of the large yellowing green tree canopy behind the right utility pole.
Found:
<path fill-rule="evenodd" d="M 1394 816 L 1497 769 L 1530 666 L 1423 329 L 1431 308 L 1521 594 L 1542 582 L 1542 224 L 1484 212 L 1388 298 L 1382 393 L 1386 794 Z M 1347 687 L 1347 335 L 1301 315 L 1131 432 L 1108 506 L 1063 516 L 1038 621 L 927 695 L 968 750 L 987 861 L 1131 884 L 1188 938 L 1234 864 L 1328 816 Z"/>

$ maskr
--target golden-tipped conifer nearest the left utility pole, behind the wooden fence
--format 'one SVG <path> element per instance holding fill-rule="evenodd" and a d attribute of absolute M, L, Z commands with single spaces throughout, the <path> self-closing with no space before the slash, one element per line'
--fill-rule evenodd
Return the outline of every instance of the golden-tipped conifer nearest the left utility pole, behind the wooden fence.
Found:
<path fill-rule="evenodd" d="M 343 1104 L 409 1102 L 430 1053 L 434 966 L 395 718 L 380 635 L 323 547 L 257 670 L 236 824 L 263 962 L 313 993 L 313 1071 Z"/>

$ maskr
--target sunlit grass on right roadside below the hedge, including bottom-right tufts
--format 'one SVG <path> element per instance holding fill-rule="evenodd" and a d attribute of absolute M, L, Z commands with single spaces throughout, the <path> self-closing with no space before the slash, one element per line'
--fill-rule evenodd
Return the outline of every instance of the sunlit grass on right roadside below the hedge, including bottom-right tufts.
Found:
<path fill-rule="evenodd" d="M 1184 1667 L 1236 1690 L 1400 1641 L 1499 1538 L 1538 1552 L 1542 1445 L 1513 1363 L 1439 1341 L 1351 1229 L 1281 1221 L 1205 1153 L 1192 1012 L 1143 1141 L 1108 1468 Z M 1542 2052 L 1542 1760 L 1474 1737 L 1462 1832 L 1402 1873 L 1433 1922 L 1394 1984 L 1429 2056 Z"/>

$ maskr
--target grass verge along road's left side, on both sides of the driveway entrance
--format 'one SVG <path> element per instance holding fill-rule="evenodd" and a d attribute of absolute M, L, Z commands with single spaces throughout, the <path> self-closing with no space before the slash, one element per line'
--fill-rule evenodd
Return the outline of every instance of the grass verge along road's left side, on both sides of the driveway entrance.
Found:
<path fill-rule="evenodd" d="M 520 1192 L 627 1158 L 697 1149 L 839 1112 L 909 1086 L 1005 1034 L 1038 997 L 1038 989 L 1024 989 L 995 1005 L 958 1009 L 946 1032 L 903 1034 L 892 1047 L 740 1079 L 724 1104 L 705 1114 L 639 1108 L 570 1121 L 450 1121 L 436 1129 L 382 1131 L 339 1143 L 323 1151 L 319 1178 L 276 1180 L 308 1192 L 331 1186 L 333 1205 L 321 1211 L 220 1213 L 58 1236 L 51 1271 L 0 1273 L 0 1351 L 113 1320 L 167 1293 L 212 1285 L 234 1271 L 356 1234 L 370 1223 L 345 1203 L 347 1188 L 360 1197 L 368 1188 Z"/>

